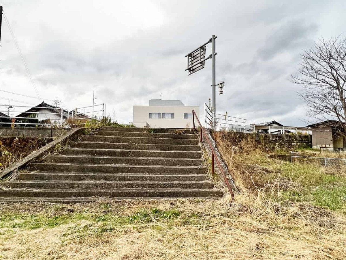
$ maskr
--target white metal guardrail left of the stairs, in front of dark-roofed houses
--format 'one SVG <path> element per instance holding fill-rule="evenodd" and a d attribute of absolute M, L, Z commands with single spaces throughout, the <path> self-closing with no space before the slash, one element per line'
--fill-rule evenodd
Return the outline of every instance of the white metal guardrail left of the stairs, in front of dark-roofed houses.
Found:
<path fill-rule="evenodd" d="M 85 106 L 75 108 L 68 111 L 61 107 L 50 106 L 10 106 L 15 111 L 10 111 L 8 108 L 3 109 L 7 105 L 0 105 L 0 125 L 12 127 L 69 127 L 69 119 L 72 118 L 78 124 L 85 124 L 90 119 L 100 120 L 106 116 L 106 104 L 97 104 L 93 106 Z M 8 107 L 8 106 L 7 106 Z M 27 109 L 27 110 L 26 110 Z M 33 109 L 34 111 L 30 111 Z M 79 112 L 78 110 L 89 109 L 90 111 Z M 26 110 L 26 111 L 24 111 Z M 101 112 L 101 113 L 100 113 Z M 25 113 L 23 115 L 23 113 Z M 14 116 L 13 114 L 17 114 Z"/>

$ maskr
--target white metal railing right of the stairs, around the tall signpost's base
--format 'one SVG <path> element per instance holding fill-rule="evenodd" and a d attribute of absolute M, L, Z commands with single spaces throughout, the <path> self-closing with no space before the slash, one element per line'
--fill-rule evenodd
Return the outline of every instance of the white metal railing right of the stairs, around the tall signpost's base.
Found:
<path fill-rule="evenodd" d="M 237 118 L 235 116 L 229 116 L 226 114 L 215 113 L 215 125 L 214 125 L 213 112 L 210 110 L 207 103 L 204 103 L 204 123 L 205 127 L 213 130 L 226 130 L 234 132 L 246 132 L 247 120 L 244 118 Z"/>

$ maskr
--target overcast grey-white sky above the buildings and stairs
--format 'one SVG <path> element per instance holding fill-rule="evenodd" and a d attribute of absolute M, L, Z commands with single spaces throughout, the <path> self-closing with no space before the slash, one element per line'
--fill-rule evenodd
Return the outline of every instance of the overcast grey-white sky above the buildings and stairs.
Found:
<path fill-rule="evenodd" d="M 306 125 L 300 87 L 289 81 L 300 53 L 320 37 L 345 35 L 340 1 L 88 1 L 0 0 L 41 99 L 72 110 L 104 102 L 118 122 L 133 105 L 180 99 L 199 105 L 211 97 L 211 60 L 190 76 L 185 55 L 216 39 L 216 80 L 224 80 L 217 112 Z M 207 55 L 211 46 L 207 45 Z M 36 96 L 2 21 L 0 89 Z M 0 104 L 25 98 L 0 92 Z M 19 104 L 11 101 L 11 104 Z M 28 104 L 29 105 L 29 104 Z M 2 107 L 3 109 L 4 107 Z M 154 111 L 155 112 L 155 111 Z"/>

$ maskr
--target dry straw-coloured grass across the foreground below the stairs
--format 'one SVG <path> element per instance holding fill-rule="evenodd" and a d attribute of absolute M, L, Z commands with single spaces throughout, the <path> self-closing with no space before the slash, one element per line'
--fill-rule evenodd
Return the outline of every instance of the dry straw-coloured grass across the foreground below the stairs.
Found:
<path fill-rule="evenodd" d="M 345 218 L 249 194 L 220 200 L 3 206 L 2 259 L 345 259 Z M 135 219 L 143 210 L 157 214 Z M 174 215 L 167 213 L 175 212 Z M 151 211 L 154 212 L 154 211 Z M 20 217 L 18 217 L 18 214 Z M 40 225 L 21 226 L 28 214 Z M 67 221 L 49 226 L 49 219 Z M 173 217 L 172 217 L 173 216 Z M 31 219 L 31 224 L 35 222 Z M 119 219 L 126 219 L 120 221 Z M 131 221 L 131 219 L 135 219 Z M 30 223 L 30 222 L 29 222 Z"/>

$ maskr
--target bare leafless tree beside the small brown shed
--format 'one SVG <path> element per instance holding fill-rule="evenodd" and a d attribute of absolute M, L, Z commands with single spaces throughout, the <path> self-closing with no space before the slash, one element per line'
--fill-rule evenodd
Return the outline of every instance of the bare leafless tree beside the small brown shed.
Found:
<path fill-rule="evenodd" d="M 309 107 L 308 115 L 336 120 L 346 132 L 346 38 L 323 38 L 301 55 L 298 75 L 291 81 L 303 87 L 299 93 Z"/>

